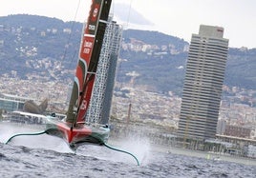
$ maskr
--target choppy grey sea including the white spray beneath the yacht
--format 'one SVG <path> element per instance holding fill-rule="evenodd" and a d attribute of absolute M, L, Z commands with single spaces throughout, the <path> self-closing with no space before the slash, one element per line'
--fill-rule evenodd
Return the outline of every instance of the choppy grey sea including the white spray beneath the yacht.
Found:
<path fill-rule="evenodd" d="M 14 132 L 17 127 L 0 124 L 0 142 Z M 255 165 L 166 153 L 145 140 L 119 142 L 118 147 L 137 155 L 140 166 L 130 155 L 105 147 L 88 145 L 74 153 L 48 135 L 17 137 L 0 144 L 0 177 L 256 177 Z"/>

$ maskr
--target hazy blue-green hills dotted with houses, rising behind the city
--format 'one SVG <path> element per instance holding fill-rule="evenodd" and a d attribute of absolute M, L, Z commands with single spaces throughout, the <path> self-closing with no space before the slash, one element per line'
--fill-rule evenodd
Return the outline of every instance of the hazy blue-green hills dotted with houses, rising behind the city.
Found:
<path fill-rule="evenodd" d="M 81 30 L 77 22 L 36 15 L 0 17 L 0 75 L 63 80 L 74 76 Z M 124 30 L 117 81 L 181 94 L 189 43 L 151 30 Z M 256 89 L 256 49 L 228 51 L 224 85 Z"/>

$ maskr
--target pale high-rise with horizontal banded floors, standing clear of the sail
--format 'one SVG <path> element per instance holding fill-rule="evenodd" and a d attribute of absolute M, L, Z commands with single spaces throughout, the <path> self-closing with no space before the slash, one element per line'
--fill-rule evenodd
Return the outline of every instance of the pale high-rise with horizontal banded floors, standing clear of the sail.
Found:
<path fill-rule="evenodd" d="M 215 138 L 224 83 L 228 40 L 224 28 L 201 25 L 192 34 L 182 92 L 181 138 Z"/>

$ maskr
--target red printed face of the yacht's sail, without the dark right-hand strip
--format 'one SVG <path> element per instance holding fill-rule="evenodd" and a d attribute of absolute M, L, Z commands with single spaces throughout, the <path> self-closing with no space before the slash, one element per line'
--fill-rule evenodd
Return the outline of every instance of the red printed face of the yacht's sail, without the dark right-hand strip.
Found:
<path fill-rule="evenodd" d="M 102 0 L 92 0 L 87 24 L 83 31 L 82 43 L 79 52 L 79 61 L 75 73 L 75 82 L 66 119 L 67 122 L 73 124 L 84 121 L 85 112 L 88 108 L 87 102 L 84 101 L 83 93 L 85 92 L 84 89 L 86 89 L 87 85 L 86 75 L 95 46 L 96 30 L 101 7 Z M 77 112 L 79 110 L 81 110 L 83 114 L 80 114 L 77 117 Z"/>

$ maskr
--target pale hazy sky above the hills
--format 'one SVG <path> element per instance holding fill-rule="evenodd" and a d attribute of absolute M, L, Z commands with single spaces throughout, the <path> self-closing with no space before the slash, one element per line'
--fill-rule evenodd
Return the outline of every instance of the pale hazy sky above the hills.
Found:
<path fill-rule="evenodd" d="M 0 0 L 0 16 L 8 14 L 37 14 L 84 22 L 91 0 Z M 79 3 L 80 2 L 80 3 Z M 80 4 L 75 18 L 77 5 Z M 151 26 L 137 26 L 144 30 L 159 30 L 190 42 L 191 34 L 198 33 L 201 24 L 224 27 L 224 38 L 229 47 L 256 48 L 256 0 L 113 0 L 126 5 L 126 20 L 118 22 L 124 28 L 135 27 L 131 16 L 137 10 Z M 129 9 L 132 8 L 132 10 Z M 129 11 L 130 10 L 130 15 Z M 117 19 L 118 20 L 118 19 Z"/>

